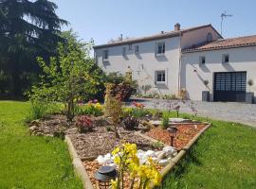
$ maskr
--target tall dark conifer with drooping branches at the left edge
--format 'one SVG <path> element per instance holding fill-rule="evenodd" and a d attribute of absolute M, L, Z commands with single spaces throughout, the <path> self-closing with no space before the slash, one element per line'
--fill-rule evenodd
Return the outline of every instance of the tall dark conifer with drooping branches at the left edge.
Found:
<path fill-rule="evenodd" d="M 67 22 L 56 9 L 47 0 L 0 0 L 0 71 L 14 96 L 22 95 L 26 82 L 40 72 L 36 57 L 49 59 L 63 41 L 60 29 Z"/>

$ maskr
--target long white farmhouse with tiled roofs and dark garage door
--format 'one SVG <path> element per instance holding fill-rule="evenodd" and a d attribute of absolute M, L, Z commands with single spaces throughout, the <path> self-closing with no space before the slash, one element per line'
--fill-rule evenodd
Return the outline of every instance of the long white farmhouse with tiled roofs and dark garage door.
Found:
<path fill-rule="evenodd" d="M 151 92 L 210 101 L 252 102 L 256 81 L 256 36 L 224 40 L 211 25 L 180 29 L 94 46 L 106 72 L 133 73 Z M 251 83 L 252 83 L 251 82 Z M 252 93 L 248 93 L 252 92 Z"/>

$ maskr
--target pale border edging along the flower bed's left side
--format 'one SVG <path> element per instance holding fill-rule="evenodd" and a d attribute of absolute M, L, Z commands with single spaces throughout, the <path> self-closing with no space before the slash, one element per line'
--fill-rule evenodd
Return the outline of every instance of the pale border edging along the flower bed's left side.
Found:
<path fill-rule="evenodd" d="M 72 163 L 73 163 L 73 166 L 74 166 L 74 170 L 75 170 L 75 173 L 80 177 L 80 179 L 82 180 L 82 185 L 83 185 L 83 188 L 85 189 L 94 189 L 93 185 L 92 185 L 92 182 L 85 170 L 85 167 L 83 166 L 82 164 L 82 161 L 75 149 L 75 147 L 73 146 L 72 142 L 71 142 L 71 139 L 69 138 L 68 135 L 65 135 L 64 137 L 64 141 L 65 143 L 67 144 L 68 146 L 68 151 L 69 151 L 69 154 L 71 156 L 71 159 L 72 159 Z"/>

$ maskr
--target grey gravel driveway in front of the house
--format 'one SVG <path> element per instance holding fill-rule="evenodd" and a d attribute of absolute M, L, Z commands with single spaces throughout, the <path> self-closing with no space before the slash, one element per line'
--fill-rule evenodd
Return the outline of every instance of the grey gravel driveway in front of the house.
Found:
<path fill-rule="evenodd" d="M 157 99 L 137 99 L 133 98 L 126 105 L 130 106 L 132 101 L 139 101 L 147 108 L 154 108 L 154 103 Z M 166 100 L 158 100 L 160 105 L 158 109 L 166 110 Z M 239 122 L 256 128 L 256 104 L 244 104 L 236 102 L 202 102 L 192 101 L 197 114 L 208 116 L 218 120 Z M 180 112 L 192 113 L 188 103 L 179 103 Z"/>

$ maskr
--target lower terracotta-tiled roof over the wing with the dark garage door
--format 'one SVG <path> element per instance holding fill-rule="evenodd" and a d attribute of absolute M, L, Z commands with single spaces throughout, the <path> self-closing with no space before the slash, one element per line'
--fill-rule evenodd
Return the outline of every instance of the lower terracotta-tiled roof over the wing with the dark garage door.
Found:
<path fill-rule="evenodd" d="M 190 53 L 190 52 L 197 52 L 197 51 L 208 51 L 208 50 L 254 46 L 254 45 L 256 45 L 256 35 L 238 37 L 238 38 L 220 39 L 211 43 L 185 49 L 183 50 L 183 52 Z"/>

